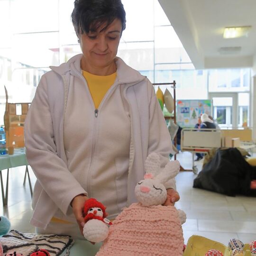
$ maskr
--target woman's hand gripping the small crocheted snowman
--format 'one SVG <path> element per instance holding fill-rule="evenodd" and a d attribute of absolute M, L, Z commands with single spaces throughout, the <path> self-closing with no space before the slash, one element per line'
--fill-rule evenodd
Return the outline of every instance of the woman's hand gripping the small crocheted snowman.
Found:
<path fill-rule="evenodd" d="M 88 197 L 84 194 L 77 195 L 73 198 L 70 205 L 73 209 L 73 214 L 75 216 L 76 222 L 79 226 L 80 232 L 83 236 L 83 226 L 84 226 L 84 216 L 83 216 L 83 207 L 85 201 L 88 200 Z"/>

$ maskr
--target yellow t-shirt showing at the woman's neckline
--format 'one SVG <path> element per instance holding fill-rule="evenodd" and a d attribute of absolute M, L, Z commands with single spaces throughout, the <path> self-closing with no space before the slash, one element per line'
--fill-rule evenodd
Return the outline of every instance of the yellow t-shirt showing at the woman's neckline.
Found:
<path fill-rule="evenodd" d="M 98 109 L 105 94 L 115 82 L 117 73 L 115 72 L 110 75 L 94 75 L 83 70 L 82 75 L 88 84 L 95 108 Z"/>

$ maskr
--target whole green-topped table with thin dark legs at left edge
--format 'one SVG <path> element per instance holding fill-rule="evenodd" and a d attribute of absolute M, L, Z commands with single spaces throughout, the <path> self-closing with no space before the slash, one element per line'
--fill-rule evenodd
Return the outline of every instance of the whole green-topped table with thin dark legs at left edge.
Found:
<path fill-rule="evenodd" d="M 9 183 L 9 168 L 18 167 L 26 165 L 26 172 L 24 177 L 23 185 L 25 185 L 26 177 L 28 178 L 29 187 L 30 187 L 30 193 L 32 196 L 32 186 L 31 181 L 28 173 L 27 168 L 27 159 L 26 159 L 26 153 L 25 148 L 15 148 L 13 155 L 0 155 L 0 179 L 1 179 L 1 190 L 2 190 L 2 200 L 3 200 L 3 206 L 6 206 L 8 203 L 8 183 Z M 2 170 L 7 169 L 7 179 L 6 179 L 6 188 L 4 193 L 4 186 L 3 186 L 3 178 L 2 178 Z"/>

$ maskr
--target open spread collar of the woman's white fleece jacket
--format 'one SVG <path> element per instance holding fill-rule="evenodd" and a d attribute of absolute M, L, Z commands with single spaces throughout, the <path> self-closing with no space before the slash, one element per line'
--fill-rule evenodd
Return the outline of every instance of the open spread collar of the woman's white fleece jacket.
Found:
<path fill-rule="evenodd" d="M 60 75 L 70 72 L 72 75 L 77 76 L 82 73 L 81 58 L 82 54 L 75 55 L 67 63 L 63 63 L 60 66 L 50 66 L 50 69 Z M 145 79 L 145 76 L 129 67 L 121 58 L 116 57 L 115 62 L 117 64 L 118 83 L 137 83 Z"/>

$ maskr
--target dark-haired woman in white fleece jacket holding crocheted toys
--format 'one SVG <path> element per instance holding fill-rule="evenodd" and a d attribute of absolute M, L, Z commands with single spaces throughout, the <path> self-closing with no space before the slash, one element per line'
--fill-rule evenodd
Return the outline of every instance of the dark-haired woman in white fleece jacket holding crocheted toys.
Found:
<path fill-rule="evenodd" d="M 25 145 L 37 176 L 30 223 L 38 233 L 82 238 L 84 202 L 96 198 L 115 218 L 136 201 L 146 156 L 157 152 L 164 166 L 172 145 L 152 84 L 116 57 L 121 1 L 76 0 L 72 21 L 82 54 L 42 76 Z M 165 204 L 174 204 L 174 180 L 166 188 Z"/>

